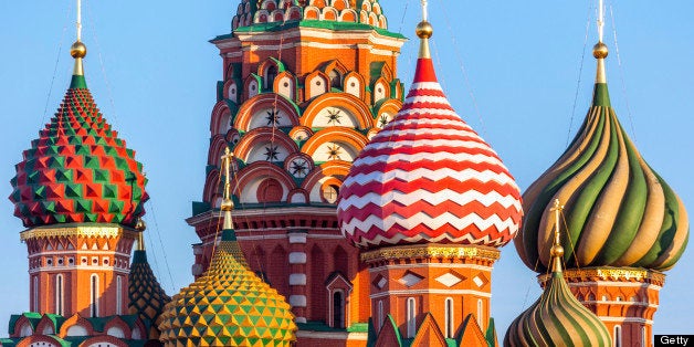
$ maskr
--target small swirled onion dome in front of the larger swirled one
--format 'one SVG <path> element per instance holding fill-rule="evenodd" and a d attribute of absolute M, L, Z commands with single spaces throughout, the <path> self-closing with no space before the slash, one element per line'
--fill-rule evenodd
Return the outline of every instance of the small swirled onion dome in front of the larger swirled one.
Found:
<path fill-rule="evenodd" d="M 553 272 L 545 292 L 511 324 L 504 346 L 611 346 L 604 324 L 576 299 L 564 281 L 559 242 L 550 253 Z"/>

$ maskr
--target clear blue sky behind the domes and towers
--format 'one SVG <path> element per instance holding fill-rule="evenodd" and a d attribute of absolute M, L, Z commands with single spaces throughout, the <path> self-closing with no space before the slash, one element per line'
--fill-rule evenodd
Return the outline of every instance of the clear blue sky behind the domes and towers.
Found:
<path fill-rule="evenodd" d="M 191 215 L 191 201 L 202 196 L 210 114 L 222 77 L 221 59 L 208 40 L 230 32 L 239 2 L 85 4 L 87 84 L 107 120 L 145 165 L 151 196 L 146 241 L 150 263 L 169 294 L 192 281 L 190 244 L 198 239 L 183 219 Z M 416 38 L 419 1 L 380 2 L 389 29 Z M 642 156 L 691 212 L 694 2 L 607 4 L 613 9 L 619 44 L 618 55 L 608 10 L 612 105 Z M 22 150 L 38 137 L 70 83 L 74 8 L 74 0 L 0 1 L 2 336 L 10 314 L 29 308 L 27 248 L 19 241 L 22 224 L 7 199 L 9 181 Z M 450 101 L 526 189 L 564 151 L 588 109 L 596 70 L 590 54 L 597 42 L 595 1 L 430 0 L 430 20 L 434 62 Z M 398 75 L 408 88 L 417 48 L 416 40 L 406 43 L 399 60 Z M 690 249 L 667 272 L 655 334 L 694 334 L 693 274 Z M 493 276 L 492 313 L 501 338 L 540 291 L 511 244 L 503 249 Z"/>

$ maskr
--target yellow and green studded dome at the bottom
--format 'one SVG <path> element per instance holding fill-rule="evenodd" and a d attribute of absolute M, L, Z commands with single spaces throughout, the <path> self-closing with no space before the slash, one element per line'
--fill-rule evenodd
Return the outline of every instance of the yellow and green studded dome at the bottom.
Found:
<path fill-rule="evenodd" d="M 166 346 L 291 346 L 297 327 L 276 290 L 253 273 L 233 230 L 225 230 L 208 271 L 161 314 Z"/>

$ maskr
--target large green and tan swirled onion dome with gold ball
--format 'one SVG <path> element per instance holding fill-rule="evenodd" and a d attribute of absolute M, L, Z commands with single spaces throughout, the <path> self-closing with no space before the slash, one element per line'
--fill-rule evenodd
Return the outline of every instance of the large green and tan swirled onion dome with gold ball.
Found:
<path fill-rule="evenodd" d="M 564 155 L 524 193 L 526 218 L 516 238 L 525 264 L 549 266 L 549 209 L 566 201 L 567 266 L 672 267 L 688 239 L 680 198 L 645 162 L 610 105 L 607 46 L 593 50 L 598 74 L 592 106 Z"/>

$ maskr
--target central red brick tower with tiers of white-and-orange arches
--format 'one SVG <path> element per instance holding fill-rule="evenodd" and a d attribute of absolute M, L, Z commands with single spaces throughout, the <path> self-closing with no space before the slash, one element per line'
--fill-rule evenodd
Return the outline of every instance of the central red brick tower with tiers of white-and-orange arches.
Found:
<path fill-rule="evenodd" d="M 192 271 L 207 269 L 221 228 L 217 159 L 229 146 L 239 242 L 288 298 L 302 346 L 317 329 L 312 336 L 366 343 L 369 278 L 339 232 L 336 201 L 353 160 L 402 105 L 403 42 L 376 0 L 243 0 L 232 32 L 212 40 L 223 80 L 202 202 L 187 220 L 201 240 Z"/>

